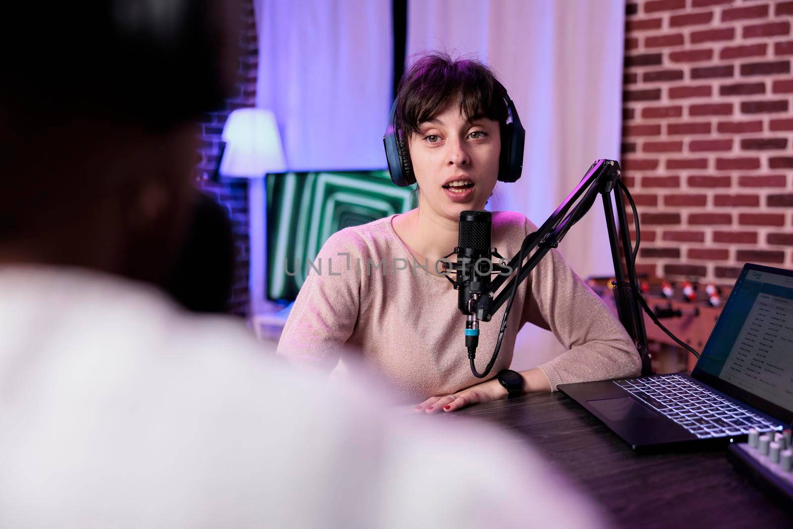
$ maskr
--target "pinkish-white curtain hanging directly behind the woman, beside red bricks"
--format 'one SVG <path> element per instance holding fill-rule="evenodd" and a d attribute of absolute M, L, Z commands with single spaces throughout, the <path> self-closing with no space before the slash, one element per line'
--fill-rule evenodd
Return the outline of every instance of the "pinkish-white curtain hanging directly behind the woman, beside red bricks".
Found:
<path fill-rule="evenodd" d="M 484 60 L 526 128 L 523 176 L 496 186 L 492 210 L 542 224 L 592 161 L 619 159 L 624 10 L 623 0 L 408 2 L 408 56 L 441 50 Z M 559 249 L 581 277 L 614 273 L 600 200 Z M 513 366 L 559 352 L 550 332 L 525 328 Z"/>

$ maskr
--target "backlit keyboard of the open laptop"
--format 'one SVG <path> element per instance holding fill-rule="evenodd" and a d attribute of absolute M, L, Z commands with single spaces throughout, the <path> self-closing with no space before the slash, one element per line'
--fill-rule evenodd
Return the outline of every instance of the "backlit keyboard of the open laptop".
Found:
<path fill-rule="evenodd" d="M 678 374 L 614 383 L 700 439 L 746 434 L 749 428 L 757 431 L 781 431 L 783 428 Z"/>

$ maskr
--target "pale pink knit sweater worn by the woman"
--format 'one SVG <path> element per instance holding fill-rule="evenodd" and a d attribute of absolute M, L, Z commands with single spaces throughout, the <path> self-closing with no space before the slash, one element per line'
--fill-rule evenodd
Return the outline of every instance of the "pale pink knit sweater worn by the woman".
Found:
<path fill-rule="evenodd" d="M 278 354 L 330 371 L 339 365 L 336 346 L 352 346 L 368 369 L 413 400 L 481 382 L 469 367 L 458 292 L 446 278 L 419 267 L 424 263 L 416 263 L 394 232 L 392 219 L 345 228 L 328 239 L 315 261 L 321 273 L 312 270 L 301 288 Z M 509 259 L 536 229 L 521 213 L 493 213 L 492 246 Z M 384 266 L 378 269 L 380 263 Z M 480 372 L 496 345 L 506 305 L 492 321 L 480 324 Z M 527 322 L 553 332 L 568 350 L 539 366 L 552 389 L 639 373 L 630 336 L 556 250 L 519 286 L 488 378 L 510 366 L 515 336 Z"/>

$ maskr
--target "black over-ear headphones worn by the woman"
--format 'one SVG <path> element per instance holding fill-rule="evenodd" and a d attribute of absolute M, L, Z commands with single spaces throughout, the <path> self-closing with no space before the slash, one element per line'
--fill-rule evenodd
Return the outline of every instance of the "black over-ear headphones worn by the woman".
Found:
<path fill-rule="evenodd" d="M 526 141 L 526 130 L 520 124 L 515 103 L 509 98 L 507 90 L 504 90 L 504 102 L 507 103 L 507 121 L 500 124 L 501 152 L 498 180 L 499 182 L 515 182 L 523 171 L 523 144 Z M 395 100 L 391 106 L 389 126 L 385 129 L 385 136 L 383 136 L 385 158 L 389 162 L 391 181 L 397 186 L 407 187 L 416 183 L 416 174 L 413 174 L 407 139 L 403 136 L 400 128 L 394 125 L 396 115 L 397 101 Z"/>

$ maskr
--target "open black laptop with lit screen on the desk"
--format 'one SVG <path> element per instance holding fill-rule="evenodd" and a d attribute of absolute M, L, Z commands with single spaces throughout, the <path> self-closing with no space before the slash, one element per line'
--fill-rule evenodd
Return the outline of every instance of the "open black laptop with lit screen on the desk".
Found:
<path fill-rule="evenodd" d="M 793 271 L 746 264 L 691 376 L 562 384 L 634 450 L 745 440 L 793 422 Z"/>

